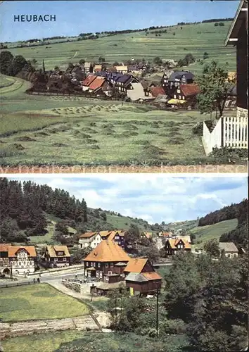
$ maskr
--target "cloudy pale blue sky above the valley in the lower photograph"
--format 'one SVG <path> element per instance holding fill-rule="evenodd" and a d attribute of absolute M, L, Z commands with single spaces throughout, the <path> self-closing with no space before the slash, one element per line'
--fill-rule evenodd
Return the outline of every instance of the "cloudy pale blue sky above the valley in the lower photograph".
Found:
<path fill-rule="evenodd" d="M 43 175 L 9 177 L 48 184 L 84 200 L 90 208 L 113 210 L 149 223 L 196 220 L 248 198 L 245 175 L 167 177 L 157 174 L 95 174 L 80 177 Z"/>

